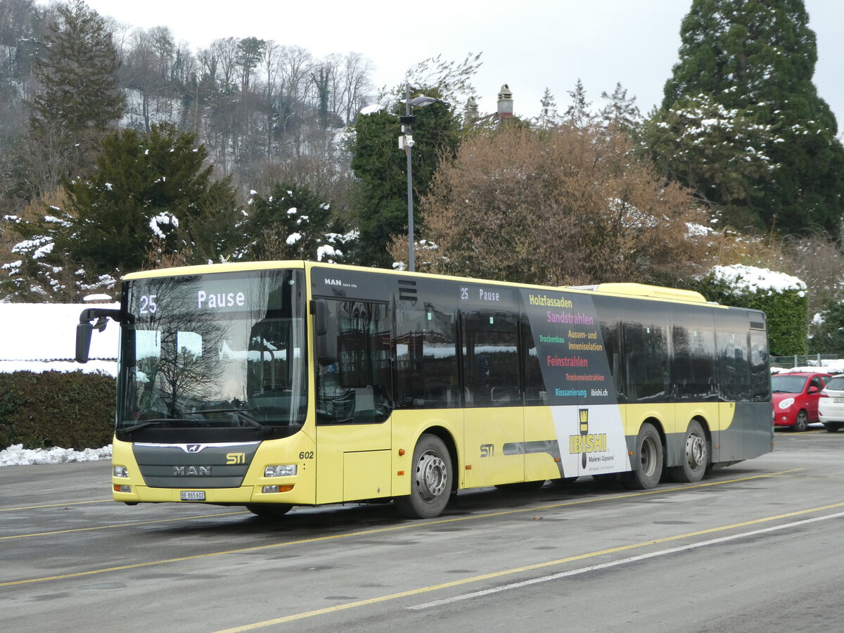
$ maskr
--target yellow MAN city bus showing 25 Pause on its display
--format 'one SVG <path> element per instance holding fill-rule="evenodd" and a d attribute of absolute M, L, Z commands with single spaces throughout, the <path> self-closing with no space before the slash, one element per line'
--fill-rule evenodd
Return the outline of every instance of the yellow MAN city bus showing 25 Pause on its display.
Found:
<path fill-rule="evenodd" d="M 550 288 L 317 262 L 133 273 L 116 501 L 394 501 L 621 479 L 649 489 L 771 451 L 766 317 L 643 284 Z"/>

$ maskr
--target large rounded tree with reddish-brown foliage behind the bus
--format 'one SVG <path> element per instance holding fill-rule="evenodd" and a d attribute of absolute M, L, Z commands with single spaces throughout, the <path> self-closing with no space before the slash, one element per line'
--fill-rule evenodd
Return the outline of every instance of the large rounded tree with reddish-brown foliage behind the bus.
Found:
<path fill-rule="evenodd" d="M 419 268 L 529 283 L 676 284 L 706 265 L 715 239 L 690 230 L 708 216 L 689 192 L 598 126 L 468 138 L 420 208 Z M 394 242 L 397 261 L 406 245 Z"/>

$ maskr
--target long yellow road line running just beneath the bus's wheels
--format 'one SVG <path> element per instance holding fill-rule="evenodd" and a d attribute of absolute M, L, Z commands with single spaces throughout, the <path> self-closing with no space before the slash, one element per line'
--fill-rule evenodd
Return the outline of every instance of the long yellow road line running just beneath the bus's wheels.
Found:
<path fill-rule="evenodd" d="M 769 477 L 776 477 L 777 475 L 787 474 L 787 473 L 794 473 L 798 470 L 803 470 L 803 468 L 790 468 L 788 470 L 781 470 L 777 471 L 776 473 L 766 473 L 760 475 L 751 475 L 750 477 L 740 477 L 737 479 L 725 479 L 723 481 L 713 481 L 707 482 L 706 484 L 694 484 L 694 485 L 685 485 L 683 487 L 677 488 L 655 488 L 653 490 L 643 490 L 641 492 L 633 492 L 627 493 L 625 495 L 614 495 L 611 497 L 600 496 L 600 497 L 592 497 L 591 499 L 582 499 L 582 500 L 575 500 L 575 501 L 564 501 L 563 503 L 554 503 L 554 504 L 546 504 L 544 506 L 533 506 L 529 508 L 521 508 L 517 510 L 504 510 L 499 512 L 488 512 L 486 514 L 479 514 L 479 515 L 472 515 L 470 517 L 453 517 L 453 518 L 446 518 L 446 519 L 436 519 L 435 521 L 429 522 L 406 522 L 400 525 L 394 525 L 390 527 L 376 527 L 369 530 L 361 530 L 360 532 L 347 532 L 342 534 L 331 534 L 328 536 L 318 536 L 312 538 L 300 538 L 294 541 L 285 541 L 284 543 L 273 543 L 268 545 L 254 545 L 252 547 L 246 547 L 241 549 L 226 549 L 224 551 L 219 552 L 208 552 L 206 554 L 196 554 L 191 556 L 179 556 L 178 558 L 170 558 L 164 560 L 149 560 L 145 563 L 133 563 L 132 565 L 119 565 L 116 567 L 106 567 L 105 569 L 95 569 L 89 571 L 77 571 L 74 573 L 69 574 L 59 574 L 57 576 L 43 576 L 41 578 L 29 578 L 27 580 L 20 580 L 20 581 L 8 581 L 8 582 L 0 582 L 0 587 L 14 587 L 17 585 L 27 585 L 34 582 L 47 582 L 47 581 L 54 581 L 54 580 L 63 580 L 66 578 L 78 578 L 81 576 L 93 576 L 95 574 L 104 574 L 109 571 L 124 571 L 130 569 L 138 569 L 141 567 L 153 567 L 155 565 L 168 565 L 170 563 L 180 563 L 185 562 L 187 560 L 199 560 L 203 558 L 212 558 L 214 556 L 224 556 L 230 554 L 245 554 L 249 552 L 258 552 L 265 549 L 275 549 L 279 547 L 288 547 L 290 545 L 300 545 L 300 544 L 307 544 L 307 543 L 318 543 L 320 541 L 328 541 L 328 540 L 335 540 L 338 538 L 349 538 L 355 536 L 367 536 L 370 534 L 378 534 L 378 533 L 386 533 L 386 532 L 396 532 L 398 530 L 408 529 L 409 527 L 420 527 L 420 526 L 430 526 L 430 525 L 441 525 L 443 523 L 454 523 L 454 522 L 463 522 L 463 521 L 471 521 L 475 519 L 483 519 L 483 518 L 491 518 L 491 517 L 503 517 L 508 514 L 519 514 L 523 512 L 536 512 L 539 510 L 551 510 L 554 508 L 561 508 L 567 506 L 582 506 L 588 503 L 595 503 L 597 501 L 611 501 L 611 500 L 619 500 L 619 499 L 630 499 L 632 497 L 643 496 L 643 495 L 654 495 L 657 493 L 664 493 L 664 492 L 680 492 L 684 490 L 695 490 L 697 488 L 706 488 L 714 485 L 722 485 L 722 484 L 734 484 L 743 481 L 750 481 L 752 479 L 766 479 Z"/>

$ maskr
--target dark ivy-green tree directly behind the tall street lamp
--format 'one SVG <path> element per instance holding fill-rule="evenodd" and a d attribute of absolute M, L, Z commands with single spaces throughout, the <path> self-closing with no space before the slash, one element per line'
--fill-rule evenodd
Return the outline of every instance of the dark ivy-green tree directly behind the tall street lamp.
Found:
<path fill-rule="evenodd" d="M 439 97 L 436 89 L 411 90 L 411 98 L 424 93 Z M 404 104 L 395 102 L 393 112 L 404 113 Z M 453 106 L 441 100 L 414 109 L 413 195 L 414 225 L 418 225 L 419 197 L 428 185 L 443 156 L 452 156 L 460 140 L 460 117 Z M 392 235 L 408 230 L 407 160 L 398 148 L 401 124 L 397 114 L 378 111 L 358 117 L 351 141 L 352 170 L 359 179 L 352 196 L 354 218 L 360 238 L 354 260 L 366 266 L 389 268 L 392 257 L 387 245 Z"/>

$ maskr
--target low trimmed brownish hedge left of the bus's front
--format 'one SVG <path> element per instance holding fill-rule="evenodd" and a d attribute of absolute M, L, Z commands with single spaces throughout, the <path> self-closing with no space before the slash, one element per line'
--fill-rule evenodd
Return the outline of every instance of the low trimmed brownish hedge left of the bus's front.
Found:
<path fill-rule="evenodd" d="M 115 379 L 81 371 L 0 374 L 0 448 L 111 444 Z"/>

